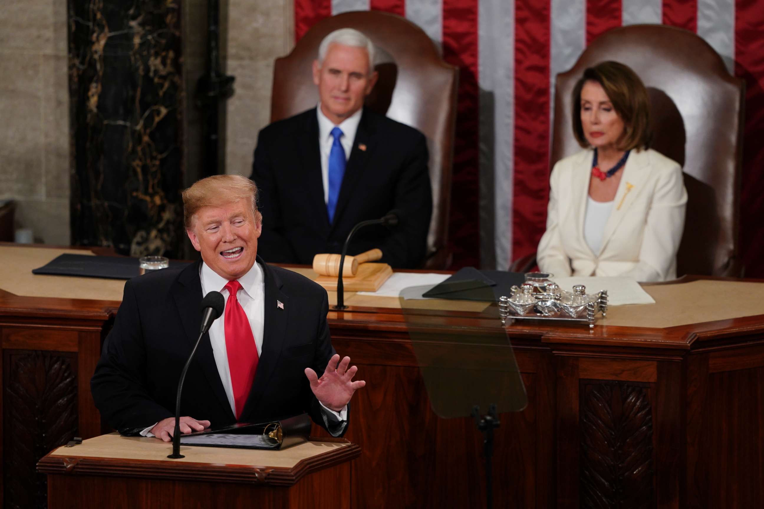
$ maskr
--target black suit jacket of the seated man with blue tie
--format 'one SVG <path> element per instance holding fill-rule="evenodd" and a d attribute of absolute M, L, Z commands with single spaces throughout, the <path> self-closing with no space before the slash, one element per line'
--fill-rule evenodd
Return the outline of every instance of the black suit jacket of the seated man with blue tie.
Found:
<path fill-rule="evenodd" d="M 361 150 L 364 145 L 366 150 Z M 319 150 L 316 108 L 261 130 L 251 176 L 263 214 L 257 248 L 261 256 L 270 263 L 311 264 L 316 253 L 341 253 L 355 224 L 379 219 L 395 208 L 401 212 L 398 227 L 358 230 L 348 254 L 379 247 L 384 263 L 396 268 L 420 266 L 432 216 L 424 135 L 364 108 L 332 224 Z"/>

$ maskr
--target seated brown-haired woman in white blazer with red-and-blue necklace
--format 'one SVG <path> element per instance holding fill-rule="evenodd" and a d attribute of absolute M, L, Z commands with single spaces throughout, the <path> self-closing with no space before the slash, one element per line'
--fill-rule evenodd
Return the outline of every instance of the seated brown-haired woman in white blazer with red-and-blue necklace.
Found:
<path fill-rule="evenodd" d="M 687 192 L 681 166 L 648 148 L 649 98 L 636 73 L 617 62 L 586 69 L 573 132 L 586 150 L 552 169 L 539 269 L 674 279 Z"/>

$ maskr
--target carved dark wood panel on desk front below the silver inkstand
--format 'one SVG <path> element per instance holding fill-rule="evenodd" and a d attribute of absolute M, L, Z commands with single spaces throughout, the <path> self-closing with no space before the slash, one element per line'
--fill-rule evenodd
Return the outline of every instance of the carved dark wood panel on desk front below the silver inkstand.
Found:
<path fill-rule="evenodd" d="M 649 385 L 581 381 L 581 507 L 656 507 Z"/>

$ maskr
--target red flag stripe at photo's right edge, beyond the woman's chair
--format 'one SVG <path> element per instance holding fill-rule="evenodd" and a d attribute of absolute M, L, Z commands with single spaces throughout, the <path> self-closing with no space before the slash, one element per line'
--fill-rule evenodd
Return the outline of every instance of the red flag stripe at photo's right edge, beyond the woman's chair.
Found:
<path fill-rule="evenodd" d="M 746 276 L 764 277 L 764 5 L 735 2 L 735 76 L 746 80 L 743 190 L 740 193 L 740 252 Z"/>

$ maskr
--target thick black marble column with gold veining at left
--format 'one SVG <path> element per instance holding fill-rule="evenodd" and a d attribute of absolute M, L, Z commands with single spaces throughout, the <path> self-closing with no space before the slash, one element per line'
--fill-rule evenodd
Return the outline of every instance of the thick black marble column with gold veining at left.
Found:
<path fill-rule="evenodd" d="M 181 0 L 69 0 L 73 242 L 176 257 Z"/>

